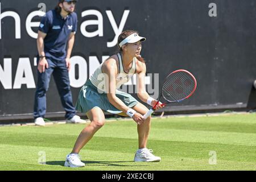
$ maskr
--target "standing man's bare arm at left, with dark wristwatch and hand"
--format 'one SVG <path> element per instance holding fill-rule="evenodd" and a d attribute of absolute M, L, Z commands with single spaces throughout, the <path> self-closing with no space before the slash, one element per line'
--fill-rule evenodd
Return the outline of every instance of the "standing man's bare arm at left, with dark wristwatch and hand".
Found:
<path fill-rule="evenodd" d="M 46 35 L 46 33 L 38 31 L 38 38 L 36 39 L 36 44 L 38 47 L 39 56 L 46 56 L 46 54 L 44 53 L 44 38 L 46 38 Z M 48 68 L 46 57 L 40 58 L 38 63 L 38 71 L 42 73 L 46 70 L 46 68 Z"/>

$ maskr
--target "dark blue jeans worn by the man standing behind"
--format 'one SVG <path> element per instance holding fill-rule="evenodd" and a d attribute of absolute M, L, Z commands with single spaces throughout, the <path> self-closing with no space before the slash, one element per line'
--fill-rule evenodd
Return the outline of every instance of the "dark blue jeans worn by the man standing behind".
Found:
<path fill-rule="evenodd" d="M 63 61 L 47 59 L 48 69 L 44 73 L 38 71 L 38 84 L 35 93 L 34 102 L 34 118 L 42 117 L 46 114 L 46 92 L 49 88 L 51 75 L 57 85 L 57 90 L 60 95 L 61 104 L 66 111 L 65 118 L 71 119 L 75 114 L 73 106 L 71 89 L 69 86 L 68 69 Z M 53 101 L 54 102 L 54 101 Z"/>

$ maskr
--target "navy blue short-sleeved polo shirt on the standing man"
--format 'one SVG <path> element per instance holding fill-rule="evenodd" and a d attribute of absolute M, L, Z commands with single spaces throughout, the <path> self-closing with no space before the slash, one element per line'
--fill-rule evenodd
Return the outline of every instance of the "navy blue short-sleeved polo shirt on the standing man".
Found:
<path fill-rule="evenodd" d="M 77 31 L 77 15 L 71 13 L 64 19 L 55 10 L 50 10 L 43 16 L 38 30 L 47 34 L 44 38 L 46 57 L 63 60 L 67 55 L 69 34 Z"/>

